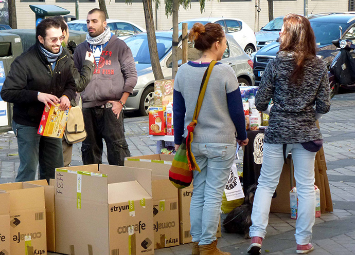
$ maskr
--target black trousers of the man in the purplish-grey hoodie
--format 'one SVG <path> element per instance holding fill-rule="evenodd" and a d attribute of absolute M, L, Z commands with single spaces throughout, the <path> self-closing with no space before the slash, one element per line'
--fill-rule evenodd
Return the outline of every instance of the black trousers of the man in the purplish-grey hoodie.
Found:
<path fill-rule="evenodd" d="M 83 164 L 101 164 L 105 140 L 110 165 L 123 166 L 131 153 L 125 138 L 123 113 L 117 119 L 112 108 L 83 108 L 86 139 L 82 142 Z"/>

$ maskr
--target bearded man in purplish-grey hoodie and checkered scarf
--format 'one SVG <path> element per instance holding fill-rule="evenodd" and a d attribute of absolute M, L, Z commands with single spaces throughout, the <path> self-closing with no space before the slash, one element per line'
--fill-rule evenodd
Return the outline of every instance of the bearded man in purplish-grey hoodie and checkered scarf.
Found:
<path fill-rule="evenodd" d="M 84 165 L 102 163 L 105 140 L 110 165 L 123 166 L 130 156 L 123 127 L 122 109 L 137 83 L 137 71 L 131 49 L 111 33 L 106 15 L 93 9 L 86 18 L 86 41 L 74 52 L 78 71 L 83 67 L 86 51 L 93 52 L 95 71 L 81 94 L 87 137 L 81 146 Z"/>

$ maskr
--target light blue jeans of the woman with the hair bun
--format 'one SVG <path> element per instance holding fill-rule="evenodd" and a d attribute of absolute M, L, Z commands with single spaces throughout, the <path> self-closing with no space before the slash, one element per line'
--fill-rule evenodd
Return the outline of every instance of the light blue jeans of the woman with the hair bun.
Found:
<path fill-rule="evenodd" d="M 191 150 L 201 172 L 193 171 L 190 206 L 192 242 L 206 245 L 216 240 L 222 194 L 234 162 L 236 143 L 193 143 Z"/>

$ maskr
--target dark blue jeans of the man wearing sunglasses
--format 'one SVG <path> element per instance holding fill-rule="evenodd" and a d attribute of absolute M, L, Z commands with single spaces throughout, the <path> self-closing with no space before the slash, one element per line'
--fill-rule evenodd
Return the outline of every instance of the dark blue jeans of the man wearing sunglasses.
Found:
<path fill-rule="evenodd" d="M 37 133 L 37 127 L 20 125 L 12 121 L 12 129 L 17 137 L 20 166 L 16 182 L 33 181 L 40 163 L 40 179 L 54 179 L 55 169 L 63 167 L 62 140 Z"/>

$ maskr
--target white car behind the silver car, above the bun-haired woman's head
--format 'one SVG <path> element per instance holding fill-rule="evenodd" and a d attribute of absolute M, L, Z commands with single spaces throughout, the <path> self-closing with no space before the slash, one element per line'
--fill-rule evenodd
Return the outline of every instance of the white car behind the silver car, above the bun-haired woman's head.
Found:
<path fill-rule="evenodd" d="M 187 23 L 187 29 L 190 30 L 196 22 L 203 25 L 207 23 L 217 23 L 223 28 L 223 31 L 234 37 L 240 47 L 244 49 L 246 54 L 251 55 L 256 51 L 256 38 L 254 31 L 241 19 L 238 18 L 225 18 L 225 17 L 209 17 L 209 18 L 194 18 L 187 19 L 179 23 L 179 30 L 182 29 L 182 23 Z"/>

